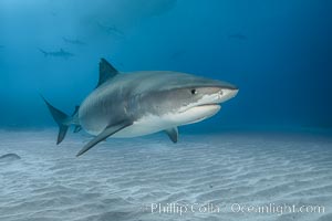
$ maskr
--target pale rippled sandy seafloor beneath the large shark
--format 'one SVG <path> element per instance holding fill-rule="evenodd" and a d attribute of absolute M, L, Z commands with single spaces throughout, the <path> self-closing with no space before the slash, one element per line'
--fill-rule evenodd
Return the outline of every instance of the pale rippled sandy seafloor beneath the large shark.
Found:
<path fill-rule="evenodd" d="M 173 145 L 159 134 L 108 139 L 76 158 L 90 138 L 70 134 L 56 147 L 56 133 L 1 130 L 0 155 L 22 158 L 0 162 L 1 221 L 332 220 L 329 135 L 180 135 Z M 152 213 L 152 203 L 195 211 Z M 322 206 L 324 212 L 242 213 L 234 203 Z M 204 206 L 214 209 L 199 212 Z"/>

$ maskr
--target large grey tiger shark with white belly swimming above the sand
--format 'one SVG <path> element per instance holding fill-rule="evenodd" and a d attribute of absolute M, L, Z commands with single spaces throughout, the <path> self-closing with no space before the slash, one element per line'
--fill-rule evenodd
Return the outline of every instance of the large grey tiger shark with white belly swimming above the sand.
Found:
<path fill-rule="evenodd" d="M 108 137 L 137 137 L 166 131 L 173 143 L 178 127 L 207 119 L 220 110 L 220 104 L 235 97 L 238 87 L 217 80 L 170 71 L 121 73 L 106 60 L 100 62 L 97 86 L 69 116 L 45 98 L 59 125 L 56 145 L 68 128 L 83 128 L 94 138 L 77 157 Z"/>

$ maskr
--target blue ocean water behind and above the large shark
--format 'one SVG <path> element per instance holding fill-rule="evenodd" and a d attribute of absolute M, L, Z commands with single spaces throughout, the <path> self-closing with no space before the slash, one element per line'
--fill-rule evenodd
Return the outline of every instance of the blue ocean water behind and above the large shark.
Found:
<path fill-rule="evenodd" d="M 185 131 L 332 126 L 328 0 L 1 0 L 0 126 L 54 126 L 39 93 L 72 113 L 107 59 L 231 82 L 238 96 Z M 63 49 L 71 57 L 44 56 Z M 211 127 L 211 125 L 215 125 Z"/>

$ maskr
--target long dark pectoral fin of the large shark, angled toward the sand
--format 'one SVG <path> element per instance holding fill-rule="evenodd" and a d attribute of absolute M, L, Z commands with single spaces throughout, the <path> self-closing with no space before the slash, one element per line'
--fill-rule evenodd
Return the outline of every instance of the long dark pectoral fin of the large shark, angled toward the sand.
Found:
<path fill-rule="evenodd" d="M 113 134 L 122 130 L 123 128 L 131 126 L 133 123 L 128 120 L 120 122 L 118 124 L 110 125 L 102 131 L 98 136 L 93 138 L 90 143 L 87 143 L 76 155 L 76 157 L 80 157 L 84 152 L 86 152 L 89 149 L 94 147 L 96 144 L 105 140 L 107 137 L 112 136 Z"/>

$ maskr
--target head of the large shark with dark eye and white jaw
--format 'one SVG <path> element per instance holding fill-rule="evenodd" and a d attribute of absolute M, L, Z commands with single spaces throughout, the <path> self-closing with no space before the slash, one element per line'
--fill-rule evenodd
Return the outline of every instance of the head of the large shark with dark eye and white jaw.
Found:
<path fill-rule="evenodd" d="M 151 104 L 147 112 L 169 125 L 193 124 L 211 117 L 220 110 L 221 103 L 235 97 L 239 91 L 227 82 L 189 74 L 174 76 L 144 97 Z"/>

